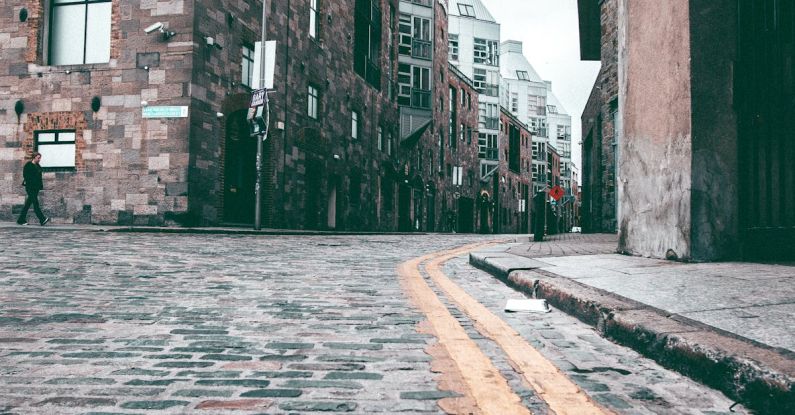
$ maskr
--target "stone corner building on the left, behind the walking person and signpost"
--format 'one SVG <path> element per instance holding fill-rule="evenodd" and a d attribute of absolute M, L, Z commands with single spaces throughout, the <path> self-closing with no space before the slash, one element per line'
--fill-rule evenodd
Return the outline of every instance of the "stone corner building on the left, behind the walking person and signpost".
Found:
<path fill-rule="evenodd" d="M 269 2 L 265 226 L 397 228 L 397 3 Z M 0 218 L 18 212 L 22 165 L 40 151 L 56 222 L 253 222 L 259 2 L 2 9 Z"/>

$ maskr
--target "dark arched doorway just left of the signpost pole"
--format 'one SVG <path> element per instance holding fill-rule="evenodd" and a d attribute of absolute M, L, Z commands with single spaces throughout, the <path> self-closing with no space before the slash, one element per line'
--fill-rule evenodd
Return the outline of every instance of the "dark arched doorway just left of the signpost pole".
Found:
<path fill-rule="evenodd" d="M 224 222 L 254 223 L 257 142 L 249 137 L 245 111 L 228 118 L 224 152 Z"/>

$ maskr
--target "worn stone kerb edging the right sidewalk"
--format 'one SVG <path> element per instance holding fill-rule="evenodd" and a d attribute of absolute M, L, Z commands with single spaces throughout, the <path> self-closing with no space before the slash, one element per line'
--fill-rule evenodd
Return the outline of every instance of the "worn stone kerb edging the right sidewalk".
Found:
<path fill-rule="evenodd" d="M 469 259 L 506 284 L 595 327 L 602 336 L 718 389 L 749 409 L 795 413 L 791 353 L 537 269 L 528 258 L 475 252 Z"/>

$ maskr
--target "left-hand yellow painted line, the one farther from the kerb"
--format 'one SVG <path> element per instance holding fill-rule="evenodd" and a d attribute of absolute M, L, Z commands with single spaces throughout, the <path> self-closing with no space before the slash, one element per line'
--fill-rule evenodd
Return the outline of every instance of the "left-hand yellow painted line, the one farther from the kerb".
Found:
<path fill-rule="evenodd" d="M 453 252 L 463 253 L 465 249 L 459 248 Z M 422 278 L 419 271 L 420 263 L 435 256 L 426 255 L 398 266 L 398 275 L 409 298 L 427 316 L 439 343 L 458 366 L 469 395 L 484 414 L 530 414 L 531 412 L 522 405 L 519 396 L 508 385 L 508 381 L 469 338 L 464 328 Z"/>

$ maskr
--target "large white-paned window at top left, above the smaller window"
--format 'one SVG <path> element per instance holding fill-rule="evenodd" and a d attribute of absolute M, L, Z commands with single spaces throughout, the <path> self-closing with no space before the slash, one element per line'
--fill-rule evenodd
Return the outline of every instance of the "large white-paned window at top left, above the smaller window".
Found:
<path fill-rule="evenodd" d="M 111 0 L 50 3 L 50 65 L 110 61 Z"/>

